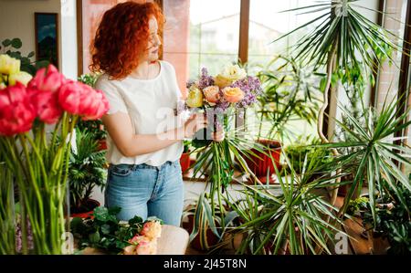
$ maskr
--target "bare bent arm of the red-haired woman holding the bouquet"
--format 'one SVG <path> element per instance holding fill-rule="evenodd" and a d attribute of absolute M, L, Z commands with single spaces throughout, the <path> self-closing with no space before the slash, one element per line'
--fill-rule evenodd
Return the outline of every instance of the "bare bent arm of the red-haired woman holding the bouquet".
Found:
<path fill-rule="evenodd" d="M 184 138 L 191 138 L 195 131 L 206 127 L 203 115 L 193 115 L 184 126 L 160 134 L 135 134 L 128 114 L 117 112 L 102 117 L 103 124 L 112 141 L 125 157 L 157 152 Z"/>

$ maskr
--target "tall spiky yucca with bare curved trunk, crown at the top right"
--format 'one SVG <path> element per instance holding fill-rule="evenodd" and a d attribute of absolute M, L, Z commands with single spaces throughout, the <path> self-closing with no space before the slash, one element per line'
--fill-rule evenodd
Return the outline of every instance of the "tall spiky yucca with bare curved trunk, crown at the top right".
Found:
<path fill-rule="evenodd" d="M 395 34 L 378 26 L 356 9 L 372 10 L 357 5 L 358 0 L 328 0 L 318 1 L 316 5 L 308 5 L 290 11 L 299 11 L 302 14 L 319 14 L 310 22 L 297 27 L 280 38 L 302 28 L 316 24 L 306 35 L 302 36 L 293 46 L 295 59 L 314 65 L 316 68 L 326 67 L 327 77 L 323 82 L 323 105 L 318 114 L 317 131 L 321 142 L 329 140 L 322 132 L 324 111 L 329 101 L 329 89 L 333 75 L 338 71 L 347 71 L 350 68 L 361 68 L 364 64 L 365 73 L 371 75 L 386 58 L 391 58 L 394 50 L 401 50 L 395 43 L 398 37 Z M 372 10 L 375 13 L 378 11 Z M 332 149 L 335 156 L 339 153 Z M 340 170 L 339 170 L 340 171 Z M 337 181 L 338 183 L 338 181 Z M 334 188 L 332 203 L 335 202 L 338 188 Z"/>

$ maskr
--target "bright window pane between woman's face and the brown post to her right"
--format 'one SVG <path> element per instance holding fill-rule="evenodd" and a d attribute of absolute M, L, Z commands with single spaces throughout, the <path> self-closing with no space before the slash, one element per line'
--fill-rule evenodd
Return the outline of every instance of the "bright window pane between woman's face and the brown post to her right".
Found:
<path fill-rule="evenodd" d="M 191 0 L 189 32 L 189 75 L 198 77 L 201 68 L 216 74 L 237 61 L 240 0 Z"/>

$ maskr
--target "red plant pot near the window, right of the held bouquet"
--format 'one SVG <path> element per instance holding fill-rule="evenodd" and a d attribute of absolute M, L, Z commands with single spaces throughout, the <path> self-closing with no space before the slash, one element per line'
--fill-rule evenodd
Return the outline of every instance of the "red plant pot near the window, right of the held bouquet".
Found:
<path fill-rule="evenodd" d="M 279 163 L 279 157 L 281 154 L 281 143 L 277 141 L 269 140 L 259 140 L 260 144 L 268 146 L 269 149 L 266 149 L 265 152 L 269 152 L 272 156 L 273 161 L 269 158 L 267 154 L 258 152 L 256 149 L 251 149 L 251 152 L 255 153 L 257 156 L 251 155 L 250 158 L 245 158 L 246 163 L 248 164 L 251 172 L 257 175 L 258 179 L 262 183 L 267 183 L 267 173 L 270 174 L 269 183 L 273 184 L 275 179 L 272 177 L 272 174 L 276 173 L 274 164 L 277 166 L 277 169 L 281 169 L 281 164 Z"/>

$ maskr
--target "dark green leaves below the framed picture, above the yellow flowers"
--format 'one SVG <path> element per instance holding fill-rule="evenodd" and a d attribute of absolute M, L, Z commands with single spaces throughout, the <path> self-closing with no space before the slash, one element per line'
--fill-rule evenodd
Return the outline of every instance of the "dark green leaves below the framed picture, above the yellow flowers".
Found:
<path fill-rule="evenodd" d="M 29 73 L 32 76 L 36 75 L 36 72 L 39 68 L 46 68 L 48 66 L 47 60 L 41 61 L 32 61 L 31 58 L 35 56 L 34 51 L 28 53 L 27 56 L 23 56 L 21 52 L 17 49 L 22 47 L 21 39 L 13 38 L 13 39 L 5 39 L 2 41 L 2 46 L 0 49 L 4 51 L 5 54 L 10 56 L 11 58 L 16 58 L 20 60 L 20 70 Z"/>

